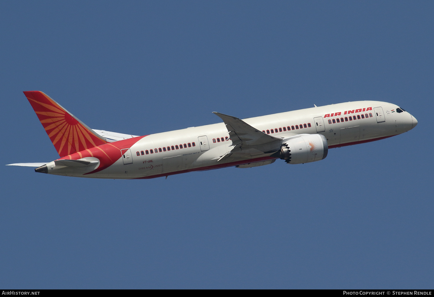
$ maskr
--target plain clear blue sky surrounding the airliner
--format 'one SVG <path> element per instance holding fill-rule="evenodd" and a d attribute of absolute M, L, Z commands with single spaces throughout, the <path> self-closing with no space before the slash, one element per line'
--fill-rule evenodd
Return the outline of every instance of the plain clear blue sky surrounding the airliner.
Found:
<path fill-rule="evenodd" d="M 355 101 L 410 132 L 320 162 L 98 180 L 3 166 L 3 288 L 432 288 L 431 1 L 2 1 L 1 164 L 58 158 L 22 91 L 146 135 Z"/>

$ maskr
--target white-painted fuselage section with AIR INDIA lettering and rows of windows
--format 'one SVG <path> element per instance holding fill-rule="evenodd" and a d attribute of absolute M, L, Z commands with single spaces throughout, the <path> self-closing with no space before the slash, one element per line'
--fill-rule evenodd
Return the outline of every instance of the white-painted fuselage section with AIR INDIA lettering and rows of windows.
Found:
<path fill-rule="evenodd" d="M 408 112 L 396 112 L 397 108 L 387 102 L 357 101 L 243 121 L 266 134 L 282 138 L 282 141 L 296 134 L 321 134 L 327 139 L 329 148 L 334 148 L 382 139 L 412 129 L 417 124 L 416 119 Z M 88 175 L 72 172 L 58 174 L 89 178 L 152 178 L 276 159 L 270 154 L 263 154 L 237 162 L 219 161 L 232 149 L 229 137 L 224 123 L 151 134 L 135 142 L 129 148 L 130 152 L 126 149 L 122 151 L 126 152 L 127 159 L 124 155 L 99 172 Z M 184 148 L 184 144 L 187 147 Z M 54 171 L 48 173 L 56 174 Z"/>

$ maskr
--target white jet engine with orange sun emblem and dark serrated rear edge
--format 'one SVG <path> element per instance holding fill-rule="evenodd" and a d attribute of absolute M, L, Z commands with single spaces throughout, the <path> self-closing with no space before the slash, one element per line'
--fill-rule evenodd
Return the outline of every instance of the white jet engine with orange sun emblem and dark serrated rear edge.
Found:
<path fill-rule="evenodd" d="M 327 157 L 329 146 L 321 134 L 305 134 L 284 142 L 279 158 L 288 164 L 315 162 Z"/>

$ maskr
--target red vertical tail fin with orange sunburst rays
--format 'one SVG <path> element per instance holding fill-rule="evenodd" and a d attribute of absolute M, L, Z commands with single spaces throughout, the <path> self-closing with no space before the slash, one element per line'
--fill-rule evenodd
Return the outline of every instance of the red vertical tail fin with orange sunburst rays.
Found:
<path fill-rule="evenodd" d="M 82 121 L 40 91 L 24 92 L 60 157 L 107 143 Z"/>

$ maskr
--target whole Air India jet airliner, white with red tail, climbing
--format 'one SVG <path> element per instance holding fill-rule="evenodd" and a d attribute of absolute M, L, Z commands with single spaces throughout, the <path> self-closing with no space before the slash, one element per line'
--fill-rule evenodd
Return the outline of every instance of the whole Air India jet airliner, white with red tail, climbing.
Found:
<path fill-rule="evenodd" d="M 59 153 L 35 172 L 84 178 L 143 179 L 234 166 L 251 168 L 282 159 L 302 164 L 324 159 L 329 148 L 385 139 L 418 121 L 387 102 L 356 101 L 239 119 L 150 135 L 90 129 L 40 91 L 24 95 Z"/>

